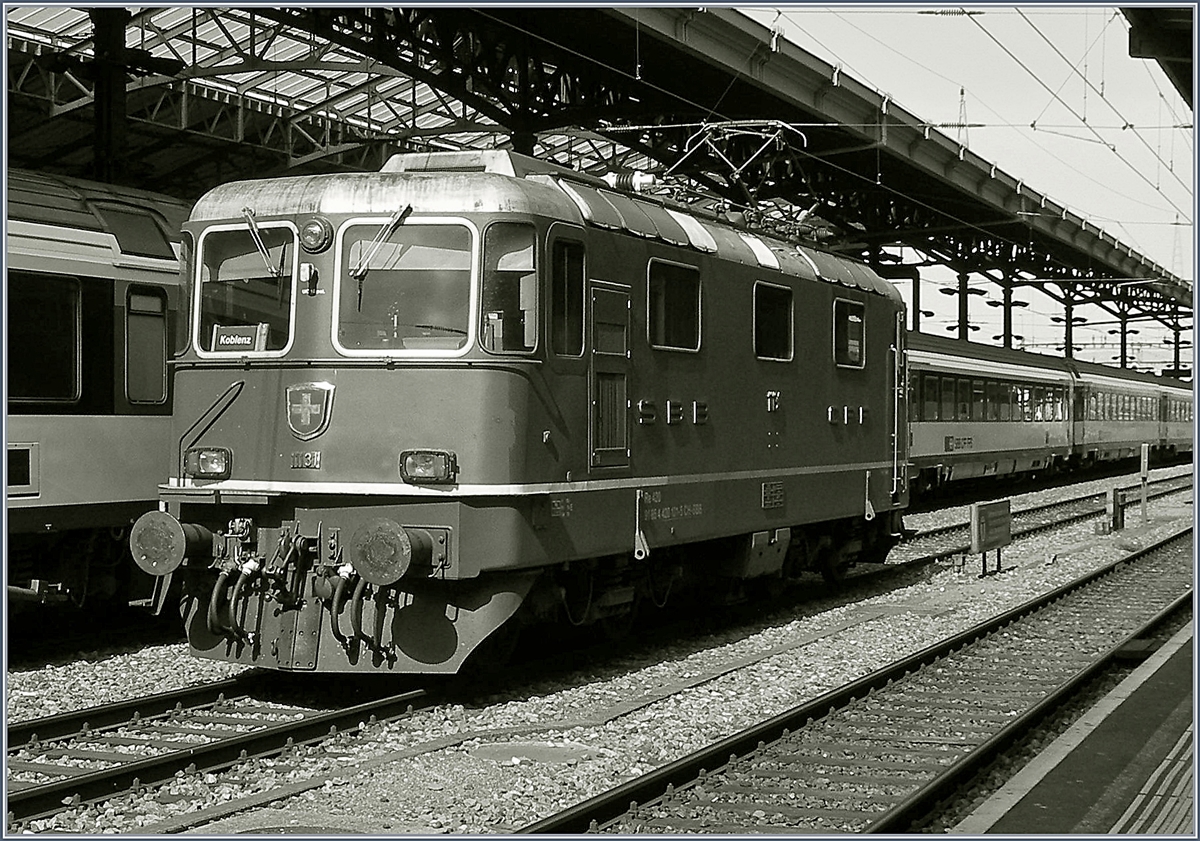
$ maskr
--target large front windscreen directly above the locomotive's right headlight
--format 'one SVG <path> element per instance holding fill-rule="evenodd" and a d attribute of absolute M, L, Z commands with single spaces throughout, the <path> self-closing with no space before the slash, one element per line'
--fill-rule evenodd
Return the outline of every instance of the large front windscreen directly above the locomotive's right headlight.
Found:
<path fill-rule="evenodd" d="M 472 234 L 466 226 L 409 220 L 390 234 L 382 222 L 347 226 L 337 298 L 338 347 L 352 352 L 466 347 L 470 269 Z"/>

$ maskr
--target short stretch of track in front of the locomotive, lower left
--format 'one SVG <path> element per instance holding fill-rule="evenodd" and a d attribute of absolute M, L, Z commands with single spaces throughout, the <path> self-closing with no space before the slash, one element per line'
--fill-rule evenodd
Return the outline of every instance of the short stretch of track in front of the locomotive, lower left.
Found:
<path fill-rule="evenodd" d="M 378 721 L 422 702 L 414 690 L 334 710 L 256 698 L 256 675 L 8 726 L 10 830 L 65 809 L 216 770 Z"/>

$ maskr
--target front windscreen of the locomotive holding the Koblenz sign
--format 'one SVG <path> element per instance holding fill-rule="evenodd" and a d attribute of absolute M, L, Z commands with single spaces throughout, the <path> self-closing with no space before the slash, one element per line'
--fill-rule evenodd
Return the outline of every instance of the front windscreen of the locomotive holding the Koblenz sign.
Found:
<path fill-rule="evenodd" d="M 282 350 L 290 338 L 290 228 L 259 226 L 263 250 L 246 227 L 200 240 L 199 342 L 203 350 Z"/>

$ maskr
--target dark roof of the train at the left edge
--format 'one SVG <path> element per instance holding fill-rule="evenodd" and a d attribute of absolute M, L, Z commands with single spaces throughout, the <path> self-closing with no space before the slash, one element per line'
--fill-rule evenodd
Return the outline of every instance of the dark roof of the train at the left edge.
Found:
<path fill-rule="evenodd" d="M 169 196 L 24 169 L 10 169 L 6 187 L 7 218 L 78 230 L 113 233 L 113 220 L 102 209 L 124 205 L 157 216 L 162 233 L 178 242 L 188 211 L 186 203 Z"/>

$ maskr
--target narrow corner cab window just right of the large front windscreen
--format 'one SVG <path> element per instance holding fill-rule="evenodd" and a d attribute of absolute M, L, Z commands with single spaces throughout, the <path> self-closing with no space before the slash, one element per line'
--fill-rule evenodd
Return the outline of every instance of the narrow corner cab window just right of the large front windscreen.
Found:
<path fill-rule="evenodd" d="M 538 275 L 532 224 L 493 222 L 484 233 L 480 342 L 492 353 L 529 353 L 538 346 Z"/>

